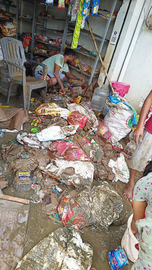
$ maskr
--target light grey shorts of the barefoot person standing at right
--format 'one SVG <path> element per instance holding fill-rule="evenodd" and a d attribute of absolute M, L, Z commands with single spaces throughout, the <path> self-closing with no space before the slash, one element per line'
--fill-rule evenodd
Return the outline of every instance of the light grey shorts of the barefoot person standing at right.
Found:
<path fill-rule="evenodd" d="M 144 130 L 142 142 L 138 144 L 129 163 L 130 168 L 141 172 L 148 160 L 152 158 L 152 134 Z"/>

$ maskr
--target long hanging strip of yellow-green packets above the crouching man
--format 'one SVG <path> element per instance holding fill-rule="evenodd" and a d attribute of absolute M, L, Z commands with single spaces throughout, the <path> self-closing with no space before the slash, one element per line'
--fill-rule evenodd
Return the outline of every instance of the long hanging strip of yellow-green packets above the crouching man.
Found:
<path fill-rule="evenodd" d="M 79 11 L 78 11 L 78 16 L 77 16 L 77 21 L 76 21 L 76 25 L 75 25 L 75 29 L 74 29 L 71 49 L 77 49 L 77 46 L 78 46 L 80 29 L 81 29 L 81 24 L 82 24 L 82 19 L 83 19 L 83 16 L 81 14 L 83 4 L 84 4 L 84 0 L 81 0 L 80 6 L 79 6 Z"/>

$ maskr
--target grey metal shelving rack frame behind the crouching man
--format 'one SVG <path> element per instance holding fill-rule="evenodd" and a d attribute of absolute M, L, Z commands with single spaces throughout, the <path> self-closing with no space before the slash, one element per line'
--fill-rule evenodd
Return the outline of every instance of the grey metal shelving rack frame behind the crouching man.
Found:
<path fill-rule="evenodd" d="M 19 4 L 19 8 L 18 8 L 18 13 L 17 13 L 17 16 L 19 17 L 18 19 L 18 29 L 20 30 L 20 6 L 21 6 L 21 1 L 26 1 L 26 2 L 29 2 L 28 0 L 17 0 L 18 4 Z M 31 2 L 31 1 L 30 1 Z M 46 45 L 50 45 L 52 47 L 56 47 L 56 48 L 60 48 L 60 53 L 63 54 L 63 46 L 65 44 L 65 41 L 66 41 L 66 37 L 67 35 L 73 35 L 73 33 L 67 33 L 67 30 L 68 28 L 73 30 L 74 31 L 74 26 L 71 25 L 71 23 L 75 23 L 73 21 L 70 21 L 69 20 L 69 16 L 67 16 L 66 19 L 53 19 L 53 18 L 47 18 L 47 17 L 43 17 L 43 16 L 40 16 L 40 15 L 37 15 L 35 14 L 35 11 L 36 11 L 36 5 L 39 5 L 43 8 L 45 8 L 45 11 L 47 11 L 47 6 L 46 4 L 41 4 L 41 3 L 38 3 L 38 0 L 33 0 L 32 3 L 34 4 L 34 10 L 33 10 L 33 20 L 32 20 L 32 39 L 31 39 L 31 54 L 30 54 L 30 59 L 33 60 L 33 49 L 34 49 L 34 43 L 35 42 L 41 42 L 41 43 L 44 43 Z M 101 53 L 102 51 L 102 48 L 103 48 L 103 45 L 105 42 L 109 43 L 109 40 L 106 39 L 106 36 L 107 36 L 107 33 L 108 33 L 108 29 L 109 29 L 109 26 L 110 26 L 110 23 L 111 22 L 114 22 L 114 20 L 112 19 L 112 16 L 113 16 L 113 13 L 114 13 L 114 9 L 116 7 L 116 4 L 117 4 L 117 0 L 114 0 L 113 1 L 113 4 L 112 4 L 112 7 L 111 7 L 111 11 L 110 11 L 110 15 L 108 18 L 106 17 L 101 17 L 100 15 L 100 19 L 106 19 L 107 20 L 107 24 L 106 24 L 106 27 L 105 27 L 105 31 L 104 31 L 104 35 L 103 37 L 102 36 L 99 36 L 99 35 L 96 35 L 94 34 L 94 37 L 96 40 L 98 41 L 101 41 L 100 45 L 99 45 L 99 52 Z M 57 5 L 54 5 L 54 6 L 57 6 Z M 42 23 L 41 25 L 36 23 L 36 19 L 35 17 L 38 17 L 38 18 L 42 18 L 44 19 L 44 23 Z M 27 20 L 27 19 L 26 19 Z M 47 20 L 54 20 L 54 21 L 65 21 L 65 25 L 64 25 L 64 30 L 63 32 L 61 30 L 55 30 L 55 29 L 50 29 L 50 28 L 46 28 L 46 21 Z M 30 20 L 29 20 L 30 21 Z M 70 24 L 70 25 L 69 25 Z M 43 41 L 39 41 L 39 40 L 35 40 L 35 37 L 34 37 L 34 34 L 35 34 L 35 29 L 40 29 L 43 31 L 43 35 L 45 35 L 45 31 L 50 31 L 50 32 L 54 32 L 54 33 L 59 33 L 60 35 L 62 35 L 62 45 L 61 46 L 57 46 L 57 45 L 53 45 L 53 44 L 49 44 L 49 43 L 46 43 L 46 42 L 43 42 Z M 85 35 L 85 36 L 91 36 L 90 35 L 90 32 L 86 29 L 81 29 L 81 32 L 80 32 L 81 35 Z M 71 48 L 70 45 L 67 46 L 68 48 Z M 94 61 L 94 65 L 93 65 L 93 70 L 92 70 L 92 73 L 90 74 L 89 72 L 83 72 L 84 75 L 87 75 L 89 78 L 89 85 L 91 84 L 92 82 L 92 79 L 94 76 L 94 72 L 95 72 L 95 69 L 97 67 L 97 64 L 98 64 L 98 61 L 99 61 L 99 56 L 94 56 L 94 55 L 90 55 L 89 54 L 89 50 L 85 49 L 85 48 L 81 48 L 80 50 L 77 50 L 75 49 L 75 51 L 77 53 L 80 53 L 82 55 L 85 55 L 86 57 L 90 57 L 92 58 Z M 44 54 L 39 54 L 39 55 L 42 55 L 44 57 L 49 57 L 47 55 L 44 55 Z M 77 70 L 78 72 L 80 72 L 80 70 L 74 66 L 71 66 L 69 65 L 71 68 L 73 68 L 74 70 Z"/>

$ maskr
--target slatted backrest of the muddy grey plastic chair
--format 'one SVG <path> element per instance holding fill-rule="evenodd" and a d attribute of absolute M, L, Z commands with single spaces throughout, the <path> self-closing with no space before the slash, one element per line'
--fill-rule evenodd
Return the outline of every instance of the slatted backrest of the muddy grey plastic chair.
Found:
<path fill-rule="evenodd" d="M 4 56 L 3 60 L 5 60 L 7 64 L 8 61 L 11 61 L 18 66 L 23 67 L 26 58 L 22 42 L 11 37 L 1 38 L 0 42 Z M 20 68 L 13 67 L 10 64 L 8 64 L 8 70 L 10 76 L 14 75 L 14 73 L 17 73 L 17 75 L 21 75 L 20 73 L 22 73 Z"/>

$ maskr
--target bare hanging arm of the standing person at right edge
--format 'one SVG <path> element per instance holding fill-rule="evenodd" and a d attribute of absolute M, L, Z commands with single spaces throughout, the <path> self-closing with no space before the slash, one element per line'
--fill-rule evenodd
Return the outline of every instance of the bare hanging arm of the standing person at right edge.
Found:
<path fill-rule="evenodd" d="M 139 141 L 142 142 L 144 120 L 147 116 L 147 113 L 150 110 L 151 105 L 152 105 L 152 90 L 150 91 L 149 95 L 144 101 L 144 104 L 141 108 L 137 128 L 133 132 L 133 140 L 135 141 L 136 145 L 138 145 L 138 138 Z"/>

